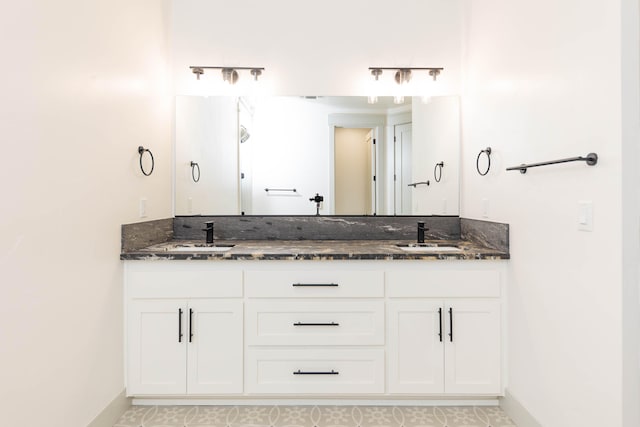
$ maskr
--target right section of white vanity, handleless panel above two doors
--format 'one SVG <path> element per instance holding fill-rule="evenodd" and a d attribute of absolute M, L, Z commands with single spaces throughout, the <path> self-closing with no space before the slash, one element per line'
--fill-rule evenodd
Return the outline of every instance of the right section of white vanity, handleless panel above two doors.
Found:
<path fill-rule="evenodd" d="M 499 270 L 387 274 L 388 389 L 393 394 L 499 395 Z"/>

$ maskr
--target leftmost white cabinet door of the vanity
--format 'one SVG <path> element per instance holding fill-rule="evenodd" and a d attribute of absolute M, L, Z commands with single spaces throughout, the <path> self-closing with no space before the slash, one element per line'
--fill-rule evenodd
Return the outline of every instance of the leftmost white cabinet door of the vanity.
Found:
<path fill-rule="evenodd" d="M 127 317 L 127 394 L 184 394 L 186 304 L 133 300 Z"/>

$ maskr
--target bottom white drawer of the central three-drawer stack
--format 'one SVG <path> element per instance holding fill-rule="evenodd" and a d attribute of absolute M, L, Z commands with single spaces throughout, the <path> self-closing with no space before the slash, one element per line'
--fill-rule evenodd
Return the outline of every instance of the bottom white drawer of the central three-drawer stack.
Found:
<path fill-rule="evenodd" d="M 384 393 L 384 350 L 249 350 L 250 394 Z"/>

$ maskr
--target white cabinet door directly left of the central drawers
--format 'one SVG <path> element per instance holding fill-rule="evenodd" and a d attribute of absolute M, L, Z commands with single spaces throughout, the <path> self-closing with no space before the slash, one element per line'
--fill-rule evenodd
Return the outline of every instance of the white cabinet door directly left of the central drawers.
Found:
<path fill-rule="evenodd" d="M 191 300 L 186 319 L 188 393 L 242 393 L 242 301 Z"/>

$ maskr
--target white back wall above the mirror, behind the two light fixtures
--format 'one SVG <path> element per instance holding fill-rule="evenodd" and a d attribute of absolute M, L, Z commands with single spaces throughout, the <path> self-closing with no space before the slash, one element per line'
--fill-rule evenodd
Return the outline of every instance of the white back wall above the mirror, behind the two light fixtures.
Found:
<path fill-rule="evenodd" d="M 459 81 L 459 0 L 173 3 L 178 94 L 224 94 L 219 71 L 196 82 L 192 65 L 265 67 L 261 86 L 277 95 L 368 95 L 373 66 L 444 67 L 439 81 Z"/>

